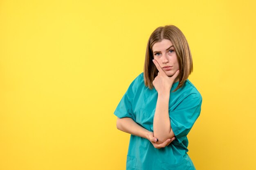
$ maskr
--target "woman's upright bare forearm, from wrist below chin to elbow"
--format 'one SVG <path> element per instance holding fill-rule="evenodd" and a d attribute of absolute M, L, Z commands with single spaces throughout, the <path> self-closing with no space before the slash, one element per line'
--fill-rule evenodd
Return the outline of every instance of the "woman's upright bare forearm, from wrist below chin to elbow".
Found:
<path fill-rule="evenodd" d="M 164 142 L 168 138 L 174 137 L 171 129 L 169 117 L 169 93 L 158 94 L 155 116 L 153 121 L 154 136 L 159 139 L 159 143 Z"/>

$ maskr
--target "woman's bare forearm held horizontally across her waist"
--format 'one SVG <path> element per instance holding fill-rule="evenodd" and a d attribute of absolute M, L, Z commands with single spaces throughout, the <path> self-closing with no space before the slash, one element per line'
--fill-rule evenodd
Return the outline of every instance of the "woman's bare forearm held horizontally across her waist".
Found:
<path fill-rule="evenodd" d="M 148 133 L 150 132 L 147 129 L 139 126 L 139 124 L 137 124 L 131 118 L 117 118 L 117 129 L 132 135 L 144 137 L 146 139 L 148 137 Z"/>

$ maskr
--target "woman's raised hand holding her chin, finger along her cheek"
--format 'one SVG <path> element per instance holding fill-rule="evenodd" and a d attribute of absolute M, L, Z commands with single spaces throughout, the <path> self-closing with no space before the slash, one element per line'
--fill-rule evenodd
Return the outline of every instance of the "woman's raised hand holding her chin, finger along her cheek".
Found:
<path fill-rule="evenodd" d="M 177 72 L 175 72 L 173 76 L 168 77 L 156 60 L 153 60 L 153 63 L 155 64 L 157 70 L 159 71 L 153 81 L 155 89 L 157 90 L 158 94 L 170 92 L 173 82 L 175 81 L 175 78 L 178 76 L 180 70 L 177 70 Z"/>

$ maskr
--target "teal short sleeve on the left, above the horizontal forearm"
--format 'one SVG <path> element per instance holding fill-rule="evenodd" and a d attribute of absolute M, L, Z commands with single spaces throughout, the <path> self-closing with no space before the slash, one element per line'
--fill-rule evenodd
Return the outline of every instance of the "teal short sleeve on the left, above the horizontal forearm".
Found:
<path fill-rule="evenodd" d="M 114 111 L 115 116 L 118 118 L 132 118 L 133 120 L 134 117 L 132 116 L 132 101 L 135 96 L 136 89 L 138 87 L 138 82 L 141 77 L 142 73 L 137 76 L 132 83 L 129 85 L 128 89 L 126 90 L 124 96 L 121 98 L 121 101 L 117 105 L 117 108 Z"/>

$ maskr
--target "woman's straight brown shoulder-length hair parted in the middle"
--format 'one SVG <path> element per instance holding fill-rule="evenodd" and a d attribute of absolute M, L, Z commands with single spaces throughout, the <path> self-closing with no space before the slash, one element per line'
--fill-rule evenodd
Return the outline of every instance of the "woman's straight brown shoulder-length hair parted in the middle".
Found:
<path fill-rule="evenodd" d="M 146 57 L 144 63 L 144 83 L 150 89 L 153 89 L 153 80 L 157 76 L 158 70 L 153 63 L 153 51 L 152 47 L 156 42 L 162 41 L 162 39 L 169 39 L 176 51 L 177 59 L 179 63 L 179 84 L 173 92 L 177 91 L 183 86 L 186 79 L 189 77 L 191 72 L 193 72 L 193 62 L 192 56 L 189 48 L 189 44 L 186 37 L 174 25 L 159 26 L 153 31 L 148 39 L 148 44 L 146 48 Z"/>

